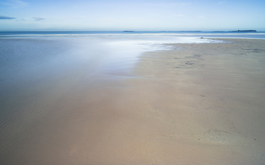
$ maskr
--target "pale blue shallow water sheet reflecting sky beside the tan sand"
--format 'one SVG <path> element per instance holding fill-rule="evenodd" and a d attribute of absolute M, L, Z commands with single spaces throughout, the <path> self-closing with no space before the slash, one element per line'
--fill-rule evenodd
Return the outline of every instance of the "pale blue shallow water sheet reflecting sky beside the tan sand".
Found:
<path fill-rule="evenodd" d="M 122 61 L 123 65 L 126 63 L 127 67 L 131 67 L 130 64 L 136 61 L 142 52 L 170 49 L 170 46 L 163 43 L 211 42 L 218 41 L 195 37 L 128 34 L 0 38 L 1 81 L 6 80 L 6 77 L 18 78 L 21 72 L 46 74 L 81 63 L 100 63 L 102 69 L 113 62 L 111 67 L 119 67 L 115 61 Z"/>

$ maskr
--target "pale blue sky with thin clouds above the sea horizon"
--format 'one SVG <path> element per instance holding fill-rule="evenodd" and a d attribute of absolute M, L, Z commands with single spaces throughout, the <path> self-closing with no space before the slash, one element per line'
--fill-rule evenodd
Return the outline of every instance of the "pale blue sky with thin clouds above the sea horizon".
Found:
<path fill-rule="evenodd" d="M 264 0 L 0 0 L 0 31 L 265 31 L 264 9 Z"/>

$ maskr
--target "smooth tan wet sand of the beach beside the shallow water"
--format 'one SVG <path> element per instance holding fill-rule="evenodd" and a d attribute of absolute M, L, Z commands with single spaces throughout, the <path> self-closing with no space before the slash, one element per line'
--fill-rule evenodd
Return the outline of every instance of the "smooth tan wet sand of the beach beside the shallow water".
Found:
<path fill-rule="evenodd" d="M 3 89 L 0 164 L 265 164 L 265 40 L 219 40 Z"/>

